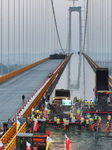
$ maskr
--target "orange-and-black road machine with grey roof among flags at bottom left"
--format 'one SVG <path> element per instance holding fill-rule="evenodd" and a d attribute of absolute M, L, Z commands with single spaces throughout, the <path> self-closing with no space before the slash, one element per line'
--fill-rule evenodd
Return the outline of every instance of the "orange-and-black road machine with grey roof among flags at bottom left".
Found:
<path fill-rule="evenodd" d="M 46 131 L 45 119 L 38 119 L 38 130 L 33 131 L 34 121 L 31 122 L 31 126 L 27 127 L 25 133 L 18 133 L 16 138 L 16 150 L 27 149 L 27 142 L 30 144 L 31 150 L 45 150 L 47 144 L 47 136 L 50 131 Z"/>

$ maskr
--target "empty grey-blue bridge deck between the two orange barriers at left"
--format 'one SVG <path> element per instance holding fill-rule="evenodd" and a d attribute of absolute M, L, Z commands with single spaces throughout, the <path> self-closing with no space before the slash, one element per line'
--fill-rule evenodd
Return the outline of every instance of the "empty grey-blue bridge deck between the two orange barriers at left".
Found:
<path fill-rule="evenodd" d="M 22 95 L 24 94 L 25 99 L 28 99 L 61 61 L 62 59 L 49 59 L 1 83 L 0 122 L 12 117 L 22 106 Z"/>

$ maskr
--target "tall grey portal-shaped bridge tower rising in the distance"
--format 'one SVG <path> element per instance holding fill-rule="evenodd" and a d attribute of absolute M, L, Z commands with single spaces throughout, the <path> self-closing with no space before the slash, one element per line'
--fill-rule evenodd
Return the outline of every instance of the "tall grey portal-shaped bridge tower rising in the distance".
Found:
<path fill-rule="evenodd" d="M 69 7 L 69 35 L 68 35 L 68 52 L 71 50 L 71 14 L 73 11 L 79 12 L 79 51 L 82 52 L 82 20 L 81 7 Z"/>

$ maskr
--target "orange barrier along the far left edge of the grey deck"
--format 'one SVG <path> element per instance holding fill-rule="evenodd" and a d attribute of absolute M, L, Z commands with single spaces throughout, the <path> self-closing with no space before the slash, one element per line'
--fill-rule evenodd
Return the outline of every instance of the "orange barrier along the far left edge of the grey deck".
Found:
<path fill-rule="evenodd" d="M 40 61 L 38 61 L 38 62 L 35 62 L 35 63 L 33 63 L 33 64 L 30 64 L 30 65 L 28 65 L 28 66 L 25 66 L 25 67 L 23 67 L 23 68 L 20 68 L 20 69 L 18 69 L 18 70 L 15 70 L 15 71 L 13 71 L 13 72 L 10 72 L 10 73 L 8 73 L 8 74 L 5 74 L 5 75 L 1 76 L 1 77 L 0 77 L 0 83 L 3 82 L 3 81 L 6 81 L 6 80 L 8 80 L 8 79 L 10 79 L 10 78 L 12 78 L 12 77 L 14 77 L 14 76 L 16 76 L 16 75 L 18 75 L 18 74 L 24 72 L 24 71 L 26 71 L 26 70 L 32 68 L 32 67 L 35 67 L 36 65 L 38 65 L 38 64 L 40 64 L 40 63 L 42 63 L 42 62 L 48 60 L 49 58 L 50 58 L 50 57 L 47 57 L 47 58 L 42 59 L 42 60 L 40 60 Z"/>

